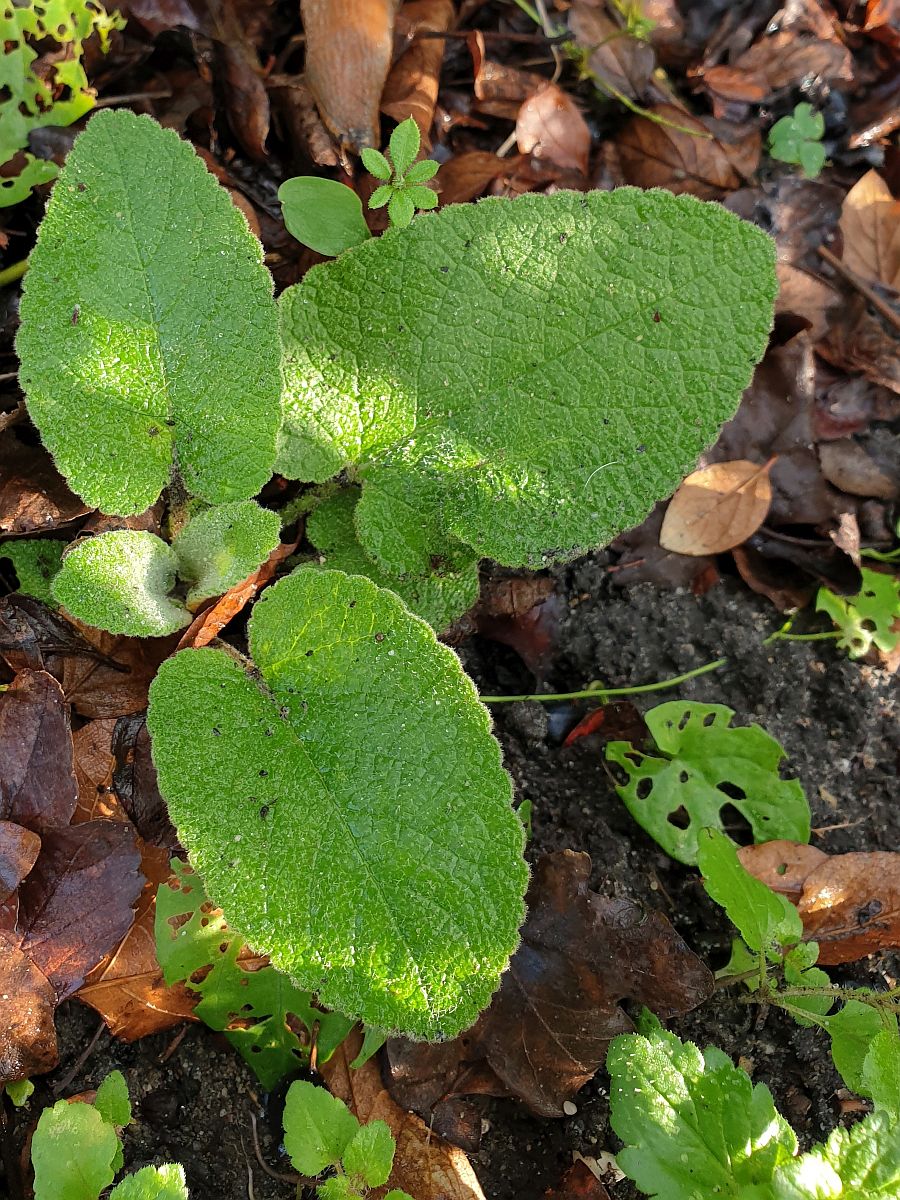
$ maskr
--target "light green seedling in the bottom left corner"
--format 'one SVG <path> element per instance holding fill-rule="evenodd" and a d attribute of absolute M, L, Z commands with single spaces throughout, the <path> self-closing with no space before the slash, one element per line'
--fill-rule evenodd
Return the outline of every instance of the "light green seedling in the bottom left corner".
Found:
<path fill-rule="evenodd" d="M 122 1166 L 121 1129 L 131 1123 L 128 1088 L 114 1070 L 92 1104 L 58 1100 L 44 1109 L 31 1140 L 35 1200 L 97 1200 Z M 126 1175 L 109 1200 L 187 1200 L 184 1169 L 174 1163 Z"/>

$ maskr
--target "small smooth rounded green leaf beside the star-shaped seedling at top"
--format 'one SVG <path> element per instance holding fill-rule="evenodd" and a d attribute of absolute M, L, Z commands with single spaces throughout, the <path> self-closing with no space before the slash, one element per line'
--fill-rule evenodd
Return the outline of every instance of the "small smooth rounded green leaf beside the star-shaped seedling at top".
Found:
<path fill-rule="evenodd" d="M 362 200 L 336 179 L 286 179 L 278 199 L 288 233 L 318 254 L 336 258 L 372 236 L 362 216 Z"/>

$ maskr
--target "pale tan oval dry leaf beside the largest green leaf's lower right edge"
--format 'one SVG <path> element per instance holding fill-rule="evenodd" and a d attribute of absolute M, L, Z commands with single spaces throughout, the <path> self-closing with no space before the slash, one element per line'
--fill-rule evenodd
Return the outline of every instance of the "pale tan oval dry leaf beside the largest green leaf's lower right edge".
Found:
<path fill-rule="evenodd" d="M 772 504 L 770 463 L 715 462 L 695 470 L 674 493 L 659 542 L 676 554 L 719 554 L 752 536 Z"/>

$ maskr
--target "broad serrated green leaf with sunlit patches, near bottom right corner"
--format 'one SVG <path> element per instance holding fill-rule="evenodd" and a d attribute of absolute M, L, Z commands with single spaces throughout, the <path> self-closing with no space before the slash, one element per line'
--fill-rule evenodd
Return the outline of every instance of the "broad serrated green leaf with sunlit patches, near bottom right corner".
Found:
<path fill-rule="evenodd" d="M 625 1142 L 616 1160 L 649 1196 L 764 1196 L 797 1138 L 772 1093 L 714 1046 L 703 1054 L 646 1014 L 640 1033 L 610 1046 L 610 1120 Z M 744 1190 L 745 1189 L 745 1190 Z"/>

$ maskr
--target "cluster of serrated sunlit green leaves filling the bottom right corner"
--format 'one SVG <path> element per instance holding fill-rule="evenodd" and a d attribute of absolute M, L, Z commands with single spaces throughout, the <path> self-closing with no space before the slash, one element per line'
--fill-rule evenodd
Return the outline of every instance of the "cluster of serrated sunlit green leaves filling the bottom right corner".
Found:
<path fill-rule="evenodd" d="M 616 1160 L 658 1200 L 896 1200 L 900 1126 L 877 1110 L 798 1154 L 764 1084 L 715 1046 L 682 1042 L 644 1010 L 610 1046 Z"/>

